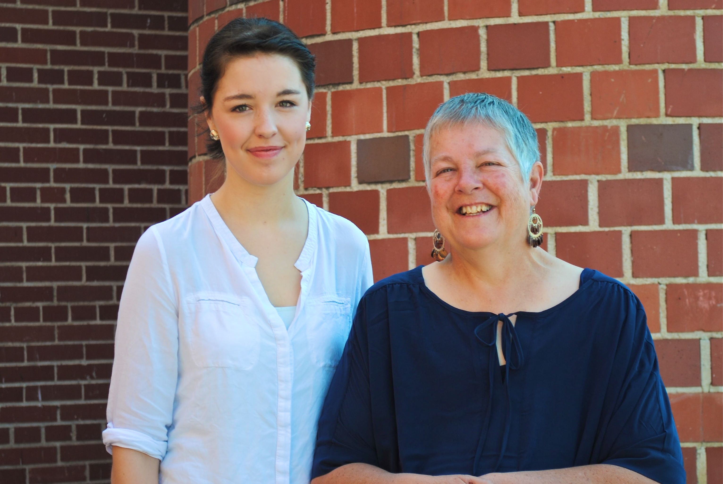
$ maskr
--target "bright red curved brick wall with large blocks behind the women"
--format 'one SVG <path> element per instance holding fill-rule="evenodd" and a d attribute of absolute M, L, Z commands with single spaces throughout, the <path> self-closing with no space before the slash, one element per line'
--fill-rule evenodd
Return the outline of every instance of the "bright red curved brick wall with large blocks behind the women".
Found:
<path fill-rule="evenodd" d="M 439 103 L 482 90 L 538 129 L 547 250 L 649 315 L 689 483 L 723 482 L 722 0 L 189 2 L 189 93 L 214 30 L 285 20 L 317 55 L 299 195 L 369 236 L 375 279 L 429 262 L 420 159 Z M 213 164 L 189 136 L 189 202 Z"/>

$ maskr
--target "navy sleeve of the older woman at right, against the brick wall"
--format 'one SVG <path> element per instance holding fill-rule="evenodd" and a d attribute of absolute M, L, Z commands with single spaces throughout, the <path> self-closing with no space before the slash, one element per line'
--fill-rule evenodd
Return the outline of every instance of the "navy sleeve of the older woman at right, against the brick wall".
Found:
<path fill-rule="evenodd" d="M 645 310 L 633 294 L 612 362 L 599 462 L 637 472 L 660 484 L 685 484 L 683 454 Z"/>

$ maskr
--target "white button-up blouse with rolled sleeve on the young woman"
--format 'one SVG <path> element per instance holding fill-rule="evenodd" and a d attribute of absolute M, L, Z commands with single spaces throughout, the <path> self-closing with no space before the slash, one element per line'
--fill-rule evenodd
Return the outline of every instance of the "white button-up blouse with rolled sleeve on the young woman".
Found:
<path fill-rule="evenodd" d="M 321 405 L 372 267 L 354 224 L 307 208 L 288 330 L 209 196 L 142 235 L 118 315 L 108 451 L 161 459 L 163 484 L 309 483 Z"/>

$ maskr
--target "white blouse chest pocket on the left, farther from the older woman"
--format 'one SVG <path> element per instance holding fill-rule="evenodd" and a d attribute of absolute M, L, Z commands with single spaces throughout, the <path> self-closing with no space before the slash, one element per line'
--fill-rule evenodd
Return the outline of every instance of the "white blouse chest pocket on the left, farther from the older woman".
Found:
<path fill-rule="evenodd" d="M 250 306 L 248 298 L 233 294 L 189 296 L 189 347 L 196 365 L 240 370 L 256 365 L 261 334 Z"/>

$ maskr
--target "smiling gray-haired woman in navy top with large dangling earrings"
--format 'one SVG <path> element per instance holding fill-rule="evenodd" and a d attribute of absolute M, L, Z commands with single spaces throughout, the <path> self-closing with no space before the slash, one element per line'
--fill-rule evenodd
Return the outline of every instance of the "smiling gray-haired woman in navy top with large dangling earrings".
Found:
<path fill-rule="evenodd" d="M 640 301 L 536 248 L 529 120 L 492 95 L 452 98 L 424 163 L 441 261 L 362 298 L 313 484 L 685 483 Z"/>

